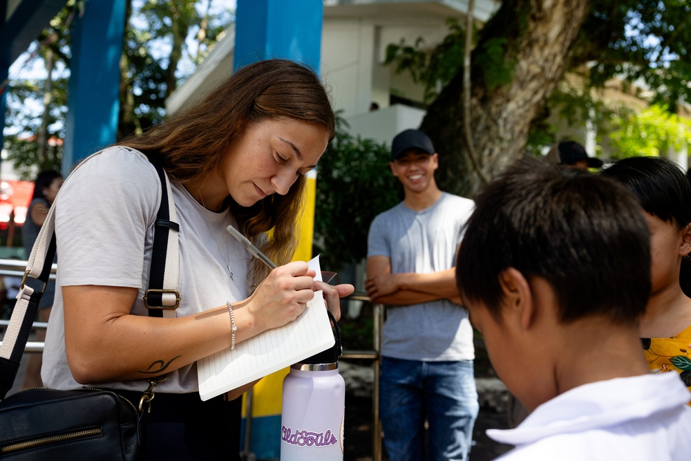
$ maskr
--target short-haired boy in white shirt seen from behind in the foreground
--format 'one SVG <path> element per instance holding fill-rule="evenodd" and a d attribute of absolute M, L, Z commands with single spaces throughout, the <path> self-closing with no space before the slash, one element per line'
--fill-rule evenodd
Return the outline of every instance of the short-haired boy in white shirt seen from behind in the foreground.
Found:
<path fill-rule="evenodd" d="M 488 431 L 516 446 L 502 459 L 688 459 L 688 391 L 641 354 L 650 246 L 634 196 L 524 159 L 475 207 L 457 283 L 497 374 L 532 411 Z"/>

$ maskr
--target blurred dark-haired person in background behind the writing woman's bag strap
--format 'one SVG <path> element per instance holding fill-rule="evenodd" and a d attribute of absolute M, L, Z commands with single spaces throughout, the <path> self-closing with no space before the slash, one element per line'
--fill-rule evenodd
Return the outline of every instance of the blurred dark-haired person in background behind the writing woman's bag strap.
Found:
<path fill-rule="evenodd" d="M 24 246 L 24 256 L 28 259 L 31 254 L 31 249 L 36 242 L 36 238 L 41 232 L 41 226 L 48 216 L 48 209 L 53 205 L 57 192 L 62 186 L 62 176 L 54 170 L 41 171 L 34 180 L 34 191 L 31 196 L 31 202 L 26 210 L 26 220 L 21 226 L 21 241 Z M 57 262 L 53 261 L 54 263 Z M 30 287 L 37 290 L 43 290 L 43 283 L 28 280 Z M 15 296 L 17 293 L 15 292 Z M 50 308 L 53 307 L 53 299 L 55 298 L 55 281 L 48 281 L 46 290 L 39 301 L 38 321 L 47 322 L 50 317 Z M 38 328 L 36 331 L 36 341 L 44 341 L 46 339 L 46 330 Z M 32 387 L 41 387 L 41 362 L 43 354 L 32 352 L 28 354 L 28 363 L 26 364 L 26 375 L 24 375 L 24 382 L 22 389 Z"/>

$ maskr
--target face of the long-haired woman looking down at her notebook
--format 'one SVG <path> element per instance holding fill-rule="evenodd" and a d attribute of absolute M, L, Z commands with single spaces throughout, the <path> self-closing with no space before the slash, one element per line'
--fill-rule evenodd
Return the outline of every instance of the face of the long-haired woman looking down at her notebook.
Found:
<path fill-rule="evenodd" d="M 297 178 L 316 166 L 328 132 L 288 118 L 247 126 L 231 144 L 218 170 L 220 194 L 249 207 L 271 194 L 287 194 Z"/>

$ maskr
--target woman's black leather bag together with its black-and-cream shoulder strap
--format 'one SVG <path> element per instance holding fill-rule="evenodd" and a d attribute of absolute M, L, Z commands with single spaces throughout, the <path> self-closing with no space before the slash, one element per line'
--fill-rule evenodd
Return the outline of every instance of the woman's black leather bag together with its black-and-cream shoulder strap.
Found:
<path fill-rule="evenodd" d="M 171 207 L 174 209 L 175 205 L 160 162 L 150 160 L 159 173 L 162 186 L 162 202 L 153 244 L 154 247 L 157 244 L 165 245 L 168 249 L 164 248 L 158 254 L 154 252 L 149 288 L 159 297 L 161 292 L 174 292 L 177 296 L 177 290 L 171 290 L 170 282 L 164 281 L 167 270 L 171 267 L 177 269 L 179 263 L 177 236 L 170 234 L 175 244 L 167 245 L 169 231 L 178 230 L 177 223 L 169 220 Z M 43 294 L 24 281 L 30 276 L 45 284 L 52 269 L 56 246 L 54 215 L 55 206 L 48 211 L 32 248 L 10 325 L 0 345 L 0 399 L 3 399 L 0 402 L 0 458 L 32 461 L 142 459 L 144 428 L 151 408 L 153 388 L 164 381 L 164 376 L 147 379 L 149 388 L 142 392 L 138 402 L 131 402 L 111 390 L 96 388 L 70 391 L 33 388 L 5 398 L 17 376 Z M 177 270 L 173 272 L 177 274 Z M 176 298 L 176 307 L 178 302 L 179 297 Z M 149 314 L 160 316 L 160 310 L 160 307 L 153 305 Z"/>

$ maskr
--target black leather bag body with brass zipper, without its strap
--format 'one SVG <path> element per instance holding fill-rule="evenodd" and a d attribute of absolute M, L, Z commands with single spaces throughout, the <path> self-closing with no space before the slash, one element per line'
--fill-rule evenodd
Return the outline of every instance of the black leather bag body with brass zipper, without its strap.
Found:
<path fill-rule="evenodd" d="M 21 391 L 0 405 L 0 458 L 138 460 L 138 415 L 134 402 L 112 391 Z"/>

